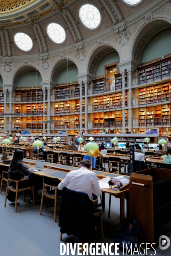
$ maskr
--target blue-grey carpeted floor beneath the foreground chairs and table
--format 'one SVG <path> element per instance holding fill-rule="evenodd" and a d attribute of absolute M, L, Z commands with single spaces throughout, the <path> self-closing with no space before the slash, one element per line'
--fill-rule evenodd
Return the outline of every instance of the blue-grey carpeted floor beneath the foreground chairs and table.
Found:
<path fill-rule="evenodd" d="M 5 189 L 0 195 L 0 255 L 1 256 L 58 256 L 60 243 L 77 243 L 74 236 L 63 234 L 63 241 L 59 240 L 58 214 L 56 223 L 53 221 L 54 207 L 46 208 L 43 204 L 42 215 L 39 215 L 40 203 L 33 207 L 31 195 L 27 195 L 26 202 L 23 196 L 18 199 L 17 212 L 14 212 L 14 203 L 7 201 L 4 207 Z M 31 191 L 30 191 L 31 192 Z M 41 191 L 39 192 L 41 195 Z M 103 211 L 104 240 L 101 240 L 99 217 L 96 218 L 96 243 L 113 243 L 116 228 L 119 226 L 119 199 L 112 197 L 111 213 L 108 217 L 109 195 L 105 196 L 106 207 Z M 100 251 L 99 251 L 100 252 Z M 114 248 L 112 247 L 114 253 Z M 143 254 L 143 253 L 142 253 Z M 148 250 L 148 255 L 154 251 Z M 67 254 L 65 254 L 67 255 Z M 72 255 L 70 250 L 69 254 Z M 75 252 L 77 255 L 77 250 Z M 119 255 L 123 255 L 119 251 Z M 134 253 L 138 255 L 138 253 Z M 160 250 L 157 247 L 157 256 L 170 256 L 171 248 Z"/>

